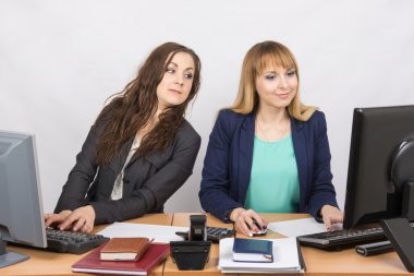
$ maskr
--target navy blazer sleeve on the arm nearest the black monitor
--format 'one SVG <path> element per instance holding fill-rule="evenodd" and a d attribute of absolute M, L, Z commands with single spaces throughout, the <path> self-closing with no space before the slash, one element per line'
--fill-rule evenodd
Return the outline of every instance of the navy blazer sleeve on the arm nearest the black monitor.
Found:
<path fill-rule="evenodd" d="M 330 168 L 331 154 L 327 135 L 327 122 L 322 112 L 317 112 L 314 147 L 313 178 L 308 200 L 308 213 L 319 217 L 319 209 L 328 204 L 338 207 Z"/>

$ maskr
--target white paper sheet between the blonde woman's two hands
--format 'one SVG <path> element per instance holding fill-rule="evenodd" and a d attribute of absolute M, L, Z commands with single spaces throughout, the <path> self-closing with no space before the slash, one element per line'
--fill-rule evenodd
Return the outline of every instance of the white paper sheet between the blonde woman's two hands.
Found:
<path fill-rule="evenodd" d="M 267 225 L 267 228 L 285 237 L 297 237 L 316 232 L 326 232 L 327 230 L 324 224 L 317 223 L 313 217 L 270 223 Z M 332 229 L 342 229 L 342 225 L 336 224 L 333 225 Z"/>

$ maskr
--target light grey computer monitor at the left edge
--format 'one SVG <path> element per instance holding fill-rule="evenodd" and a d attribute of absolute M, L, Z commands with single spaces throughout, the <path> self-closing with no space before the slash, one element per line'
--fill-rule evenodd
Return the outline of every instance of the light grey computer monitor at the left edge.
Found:
<path fill-rule="evenodd" d="M 0 131 L 0 267 L 28 259 L 7 242 L 46 248 L 35 137 Z"/>

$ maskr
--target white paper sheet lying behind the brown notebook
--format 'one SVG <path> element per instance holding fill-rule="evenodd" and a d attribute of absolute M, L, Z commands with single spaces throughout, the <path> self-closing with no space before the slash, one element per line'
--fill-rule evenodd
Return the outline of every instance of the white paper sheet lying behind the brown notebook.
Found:
<path fill-rule="evenodd" d="M 175 231 L 188 231 L 188 227 L 113 223 L 98 233 L 109 238 L 146 237 L 154 242 L 183 240 Z"/>

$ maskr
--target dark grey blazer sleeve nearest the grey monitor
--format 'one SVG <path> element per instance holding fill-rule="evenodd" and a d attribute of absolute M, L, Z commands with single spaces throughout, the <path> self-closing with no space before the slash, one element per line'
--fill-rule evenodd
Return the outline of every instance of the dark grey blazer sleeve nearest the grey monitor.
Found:
<path fill-rule="evenodd" d="M 76 156 L 76 164 L 70 171 L 68 181 L 63 185 L 54 213 L 64 209 L 73 211 L 88 204 L 85 195 L 98 167 L 95 159 L 97 142 L 98 130 L 93 125 L 81 152 Z"/>

